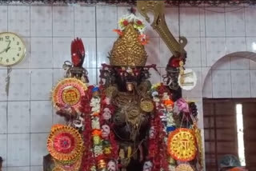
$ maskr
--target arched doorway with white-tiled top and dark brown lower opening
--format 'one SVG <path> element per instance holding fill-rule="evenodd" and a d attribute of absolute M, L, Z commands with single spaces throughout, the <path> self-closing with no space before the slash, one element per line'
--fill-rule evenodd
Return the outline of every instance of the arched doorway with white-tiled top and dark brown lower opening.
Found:
<path fill-rule="evenodd" d="M 254 107 L 251 102 L 256 104 L 255 99 L 252 99 L 256 97 L 256 54 L 237 52 L 219 59 L 209 68 L 202 91 L 206 170 L 214 171 L 218 170 L 218 162 L 225 154 L 238 156 L 239 124 L 236 105 L 242 99 L 242 112 L 248 112 Z M 243 115 L 242 123 L 249 123 L 249 116 Z M 246 126 L 242 125 L 245 131 Z M 243 145 L 249 145 L 249 142 L 246 142 L 249 132 L 242 135 L 242 138 L 245 138 Z M 245 158 L 248 158 L 246 166 L 254 170 L 252 168 L 254 165 L 256 167 L 256 163 L 250 161 L 252 157 L 256 157 L 256 151 L 248 153 L 248 150 L 244 149 Z"/>

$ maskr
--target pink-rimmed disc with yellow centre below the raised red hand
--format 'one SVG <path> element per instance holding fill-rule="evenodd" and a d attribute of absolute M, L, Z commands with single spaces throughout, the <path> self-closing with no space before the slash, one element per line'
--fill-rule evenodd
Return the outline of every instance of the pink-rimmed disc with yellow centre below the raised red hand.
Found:
<path fill-rule="evenodd" d="M 55 106 L 71 105 L 74 109 L 78 109 L 86 89 L 86 84 L 77 78 L 64 78 L 54 87 L 52 101 Z"/>

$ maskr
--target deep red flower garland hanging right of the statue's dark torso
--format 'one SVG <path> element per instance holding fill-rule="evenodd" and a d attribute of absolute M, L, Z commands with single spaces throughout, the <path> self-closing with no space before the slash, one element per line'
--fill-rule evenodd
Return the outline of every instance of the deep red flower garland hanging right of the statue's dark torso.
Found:
<path fill-rule="evenodd" d="M 168 170 L 168 162 L 166 160 L 166 106 L 172 105 L 169 92 L 164 85 L 153 85 L 151 88 L 154 101 L 154 117 L 150 122 L 150 140 L 148 158 L 153 162 L 152 171 Z M 174 124 L 170 122 L 169 125 Z"/>

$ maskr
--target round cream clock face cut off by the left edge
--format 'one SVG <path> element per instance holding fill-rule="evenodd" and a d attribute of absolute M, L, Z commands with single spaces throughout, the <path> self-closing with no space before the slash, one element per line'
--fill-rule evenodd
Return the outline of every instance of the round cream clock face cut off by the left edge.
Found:
<path fill-rule="evenodd" d="M 26 52 L 25 44 L 17 34 L 0 34 L 0 65 L 14 66 L 22 61 Z"/>

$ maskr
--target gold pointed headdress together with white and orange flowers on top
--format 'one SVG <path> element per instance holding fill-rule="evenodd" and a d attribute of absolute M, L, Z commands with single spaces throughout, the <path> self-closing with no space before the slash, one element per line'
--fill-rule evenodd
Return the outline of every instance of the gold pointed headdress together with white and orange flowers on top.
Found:
<path fill-rule="evenodd" d="M 142 34 L 144 24 L 131 14 L 121 19 L 120 28 L 122 30 L 118 30 L 119 38 L 110 51 L 110 65 L 145 66 L 147 55 L 143 46 L 146 44 L 146 36 Z"/>

